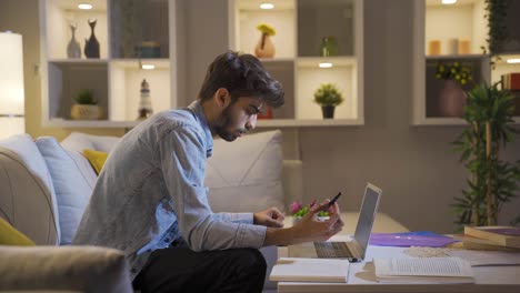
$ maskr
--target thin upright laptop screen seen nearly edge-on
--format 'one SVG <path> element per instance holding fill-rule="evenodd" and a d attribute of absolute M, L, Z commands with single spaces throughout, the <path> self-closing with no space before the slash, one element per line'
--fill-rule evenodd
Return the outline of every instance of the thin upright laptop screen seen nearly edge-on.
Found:
<path fill-rule="evenodd" d="M 361 257 L 364 259 L 364 253 L 370 240 L 373 221 L 378 213 L 379 199 L 381 190 L 370 183 L 367 184 L 364 190 L 363 202 L 359 211 L 358 225 L 356 226 L 354 240 L 361 249 Z"/>

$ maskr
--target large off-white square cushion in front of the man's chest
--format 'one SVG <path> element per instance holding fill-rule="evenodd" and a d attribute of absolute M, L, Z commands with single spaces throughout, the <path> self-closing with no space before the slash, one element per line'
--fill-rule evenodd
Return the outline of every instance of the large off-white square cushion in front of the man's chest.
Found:
<path fill-rule="evenodd" d="M 279 130 L 214 141 L 206 176 L 214 212 L 283 210 L 281 141 Z"/>

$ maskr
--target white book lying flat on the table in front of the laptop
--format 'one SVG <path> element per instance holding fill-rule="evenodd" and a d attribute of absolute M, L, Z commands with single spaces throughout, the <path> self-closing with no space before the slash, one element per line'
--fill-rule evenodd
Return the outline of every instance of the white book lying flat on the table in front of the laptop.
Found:
<path fill-rule="evenodd" d="M 277 282 L 347 283 L 348 260 L 280 257 L 269 280 Z"/>

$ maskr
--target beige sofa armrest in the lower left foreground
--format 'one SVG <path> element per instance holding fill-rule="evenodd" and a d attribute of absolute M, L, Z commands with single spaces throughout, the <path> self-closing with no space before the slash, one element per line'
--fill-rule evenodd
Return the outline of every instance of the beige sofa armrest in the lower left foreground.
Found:
<path fill-rule="evenodd" d="M 96 246 L 0 246 L 0 291 L 132 292 L 124 254 Z"/>

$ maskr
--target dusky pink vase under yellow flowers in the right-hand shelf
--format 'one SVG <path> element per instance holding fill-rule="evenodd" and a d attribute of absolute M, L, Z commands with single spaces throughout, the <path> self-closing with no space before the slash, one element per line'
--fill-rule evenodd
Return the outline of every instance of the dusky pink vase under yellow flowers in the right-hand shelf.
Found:
<path fill-rule="evenodd" d="M 462 117 L 466 103 L 466 93 L 454 80 L 446 80 L 439 94 L 440 117 Z"/>

